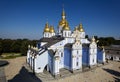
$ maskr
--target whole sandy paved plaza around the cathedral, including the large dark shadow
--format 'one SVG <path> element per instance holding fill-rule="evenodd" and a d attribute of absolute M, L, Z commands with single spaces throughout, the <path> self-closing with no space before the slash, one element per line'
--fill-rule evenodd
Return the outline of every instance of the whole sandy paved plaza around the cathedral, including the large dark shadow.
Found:
<path fill-rule="evenodd" d="M 0 70 L 8 82 L 120 82 L 120 62 L 110 61 L 108 65 L 98 67 L 84 73 L 77 73 L 60 79 L 51 79 L 49 74 L 39 74 L 34 76 L 24 66 L 26 57 L 18 57 L 15 59 L 7 59 L 9 65 Z M 64 71 L 67 74 L 68 71 Z M 69 74 L 68 74 L 69 75 Z M 44 79 L 39 79 L 43 77 Z M 49 80 L 46 80 L 50 78 Z M 1 82 L 1 81 L 0 81 Z"/>

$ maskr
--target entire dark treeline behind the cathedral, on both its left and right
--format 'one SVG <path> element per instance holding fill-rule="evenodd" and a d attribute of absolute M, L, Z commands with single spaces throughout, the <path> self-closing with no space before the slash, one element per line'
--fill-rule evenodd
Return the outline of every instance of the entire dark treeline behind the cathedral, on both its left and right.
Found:
<path fill-rule="evenodd" d="M 113 37 L 97 37 L 94 36 L 97 40 L 99 40 L 99 46 L 109 46 L 111 44 L 120 45 L 120 40 L 115 40 Z M 89 36 L 86 35 L 86 38 L 89 39 Z M 38 40 L 28 40 L 28 39 L 1 39 L 0 38 L 0 55 L 2 53 L 21 53 L 22 55 L 27 54 L 28 45 L 36 46 Z"/>

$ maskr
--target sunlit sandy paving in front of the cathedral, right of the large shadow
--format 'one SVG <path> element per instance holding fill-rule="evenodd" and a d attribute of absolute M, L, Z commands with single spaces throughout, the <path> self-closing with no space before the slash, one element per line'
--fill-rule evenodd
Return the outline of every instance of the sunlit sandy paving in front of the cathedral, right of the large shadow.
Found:
<path fill-rule="evenodd" d="M 99 67 L 89 70 L 87 68 L 83 72 L 78 71 L 74 74 L 62 69 L 61 75 L 61 78 L 54 80 L 48 77 L 49 74 L 40 74 L 38 77 L 44 82 L 120 82 L 120 62 L 111 61 L 106 65 L 99 64 Z"/>

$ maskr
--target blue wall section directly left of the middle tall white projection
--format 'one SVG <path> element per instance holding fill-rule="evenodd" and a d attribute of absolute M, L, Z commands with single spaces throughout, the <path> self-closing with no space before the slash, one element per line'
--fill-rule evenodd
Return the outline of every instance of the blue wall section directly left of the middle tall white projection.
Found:
<path fill-rule="evenodd" d="M 71 68 L 71 49 L 70 48 L 64 48 L 64 67 L 69 67 L 67 69 Z"/>

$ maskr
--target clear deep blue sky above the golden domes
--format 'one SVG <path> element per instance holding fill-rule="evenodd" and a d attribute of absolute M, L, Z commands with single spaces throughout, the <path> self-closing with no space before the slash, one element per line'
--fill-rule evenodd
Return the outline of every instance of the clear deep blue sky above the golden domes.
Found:
<path fill-rule="evenodd" d="M 57 32 L 63 5 L 71 30 L 120 38 L 120 0 L 0 0 L 0 38 L 40 39 L 46 22 Z"/>

